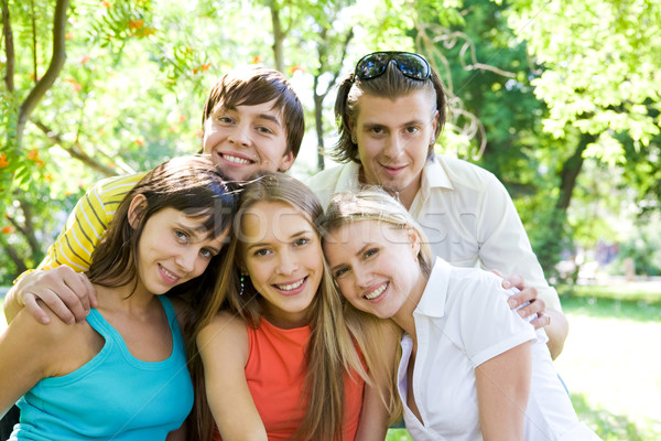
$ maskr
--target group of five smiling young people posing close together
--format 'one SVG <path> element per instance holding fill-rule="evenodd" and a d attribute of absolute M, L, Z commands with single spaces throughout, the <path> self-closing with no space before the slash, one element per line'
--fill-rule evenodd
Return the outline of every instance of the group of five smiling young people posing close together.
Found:
<path fill-rule="evenodd" d="M 429 63 L 366 55 L 335 110 L 344 164 L 304 184 L 286 78 L 235 72 L 201 155 L 88 191 L 6 299 L 11 440 L 383 440 L 402 417 L 415 440 L 598 439 L 509 195 L 434 154 Z"/>

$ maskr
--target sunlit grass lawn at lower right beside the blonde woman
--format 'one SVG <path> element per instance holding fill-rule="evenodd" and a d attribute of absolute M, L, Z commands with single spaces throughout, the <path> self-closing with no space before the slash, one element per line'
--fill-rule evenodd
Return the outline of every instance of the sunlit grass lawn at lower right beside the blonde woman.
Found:
<path fill-rule="evenodd" d="M 661 283 L 559 291 L 571 331 L 555 365 L 578 417 L 605 441 L 661 440 Z"/>

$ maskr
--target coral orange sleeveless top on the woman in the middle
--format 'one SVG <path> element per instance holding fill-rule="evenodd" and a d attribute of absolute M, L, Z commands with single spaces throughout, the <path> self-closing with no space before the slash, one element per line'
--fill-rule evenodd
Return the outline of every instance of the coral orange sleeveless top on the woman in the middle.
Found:
<path fill-rule="evenodd" d="M 246 379 L 269 441 L 291 440 L 305 416 L 305 351 L 310 326 L 282 330 L 261 319 L 257 330 L 248 327 L 249 355 Z M 345 374 L 344 440 L 356 438 L 365 381 Z M 216 431 L 216 441 L 221 440 Z"/>

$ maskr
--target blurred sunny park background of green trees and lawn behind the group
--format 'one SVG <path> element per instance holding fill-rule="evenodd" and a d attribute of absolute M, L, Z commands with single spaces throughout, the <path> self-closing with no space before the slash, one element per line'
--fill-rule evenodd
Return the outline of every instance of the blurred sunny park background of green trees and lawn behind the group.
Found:
<path fill-rule="evenodd" d="M 291 78 L 304 176 L 333 165 L 338 78 L 368 52 L 414 51 L 449 96 L 438 153 L 505 183 L 561 292 L 556 365 L 582 418 L 607 440 L 661 439 L 661 0 L 0 2 L 0 286 L 90 184 L 197 152 L 223 73 Z"/>

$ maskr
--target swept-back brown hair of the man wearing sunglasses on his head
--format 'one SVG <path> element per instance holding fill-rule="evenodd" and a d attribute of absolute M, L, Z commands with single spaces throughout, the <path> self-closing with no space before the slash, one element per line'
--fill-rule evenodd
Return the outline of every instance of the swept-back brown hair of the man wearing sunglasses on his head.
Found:
<path fill-rule="evenodd" d="M 338 162 L 357 162 L 358 146 L 351 140 L 351 129 L 349 122 L 356 119 L 358 115 L 358 98 L 361 95 L 372 95 L 390 99 L 399 98 L 403 95 L 416 90 L 429 90 L 436 95 L 436 110 L 438 110 L 438 123 L 434 140 L 438 138 L 447 118 L 447 99 L 443 83 L 438 75 L 432 68 L 432 73 L 426 79 L 414 79 L 404 76 L 395 66 L 394 62 L 388 64 L 386 72 L 369 79 L 360 79 L 354 74 L 349 74 L 340 83 L 335 98 L 335 120 L 337 121 L 337 131 L 339 139 L 330 151 L 330 157 Z M 430 144 L 429 154 L 434 150 L 434 143 Z"/>

